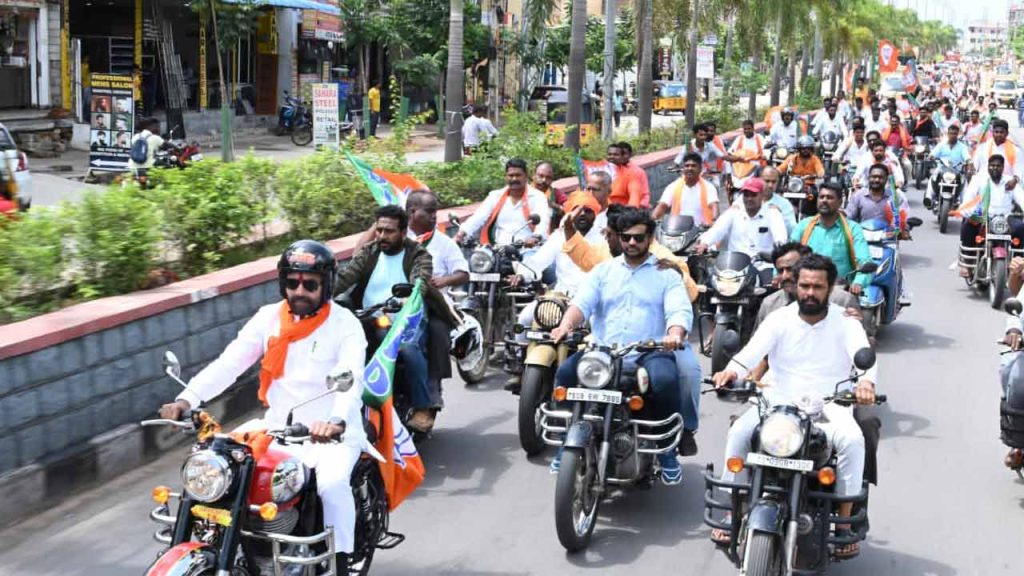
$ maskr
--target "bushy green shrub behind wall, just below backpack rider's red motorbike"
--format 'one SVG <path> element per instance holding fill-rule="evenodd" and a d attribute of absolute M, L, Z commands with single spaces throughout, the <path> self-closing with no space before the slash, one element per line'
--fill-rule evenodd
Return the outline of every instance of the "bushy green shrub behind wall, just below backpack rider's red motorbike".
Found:
<path fill-rule="evenodd" d="M 154 171 L 156 188 L 144 194 L 161 210 L 167 240 L 186 273 L 214 270 L 219 252 L 252 234 L 266 215 L 246 172 L 252 162 L 208 159 L 187 170 Z"/>

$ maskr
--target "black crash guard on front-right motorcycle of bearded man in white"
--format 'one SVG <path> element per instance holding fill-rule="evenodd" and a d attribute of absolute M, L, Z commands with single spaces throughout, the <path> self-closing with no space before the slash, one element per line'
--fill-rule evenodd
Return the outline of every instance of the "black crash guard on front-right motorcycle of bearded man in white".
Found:
<path fill-rule="evenodd" d="M 750 476 L 761 475 L 759 468 L 748 468 Z M 746 515 L 750 513 L 749 502 L 751 500 L 751 486 L 754 481 L 734 481 L 726 482 L 721 480 L 715 475 L 715 465 L 708 464 L 705 470 L 705 513 L 703 523 L 713 529 L 719 529 L 727 532 L 729 534 L 729 545 L 726 548 L 726 553 L 735 565 L 736 568 L 742 568 L 742 554 L 739 549 L 739 538 L 745 538 L 743 533 L 744 529 L 749 529 L 751 526 L 749 524 L 755 525 L 754 529 L 756 531 L 765 531 L 777 534 L 779 537 L 779 542 L 783 545 L 781 550 L 785 553 L 784 542 L 786 538 L 786 525 L 787 521 L 794 521 L 795 519 L 785 518 L 788 515 L 787 508 L 790 507 L 788 502 L 785 501 L 788 490 L 784 487 L 779 486 L 762 486 L 762 497 L 754 507 L 762 508 L 758 510 L 757 519 L 752 519 L 748 524 Z M 760 480 L 757 480 L 761 484 Z M 715 490 L 719 489 L 725 493 L 723 499 L 716 497 Z M 813 515 L 816 511 L 821 511 L 822 516 L 825 517 L 823 526 L 825 528 L 824 533 L 821 534 L 821 544 L 826 546 L 825 550 L 827 553 L 822 554 L 818 562 L 813 563 L 813 565 L 804 565 L 801 563 L 802 554 L 800 550 L 795 550 L 792 567 L 793 574 L 820 574 L 824 567 L 830 562 L 831 549 L 837 546 L 847 546 L 857 542 L 863 541 L 867 538 L 867 530 L 869 527 L 867 520 L 867 496 L 868 496 L 868 484 L 865 481 L 861 487 L 860 493 L 854 496 L 839 496 L 831 492 L 821 492 L 818 490 L 806 491 L 804 502 L 806 503 L 806 509 L 802 510 L 805 513 Z M 777 502 L 777 506 L 764 505 L 770 502 Z M 840 504 L 852 503 L 853 516 L 845 517 L 839 516 L 836 510 Z M 767 508 L 767 509 L 766 509 Z M 730 515 L 728 520 L 717 520 L 716 517 L 722 512 L 727 512 Z M 803 516 L 803 515 L 801 515 Z M 796 544 L 800 544 L 804 538 L 812 537 L 814 526 L 805 527 L 804 523 L 798 522 L 801 525 L 799 534 L 792 536 L 796 540 Z M 833 526 L 844 525 L 849 526 L 850 530 L 842 534 L 837 534 L 831 530 Z M 805 530 L 806 528 L 806 530 Z M 738 537 L 737 537 L 738 535 Z M 835 562 L 835 561 L 831 561 Z M 799 565 L 799 566 L 798 566 Z"/>

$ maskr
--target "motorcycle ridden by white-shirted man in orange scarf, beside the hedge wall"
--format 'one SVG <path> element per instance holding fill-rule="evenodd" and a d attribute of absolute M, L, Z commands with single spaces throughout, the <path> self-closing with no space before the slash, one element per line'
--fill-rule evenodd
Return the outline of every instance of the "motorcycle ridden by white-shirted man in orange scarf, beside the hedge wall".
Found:
<path fill-rule="evenodd" d="M 531 214 L 529 223 L 523 224 L 520 230 L 540 222 L 541 217 Z M 464 370 L 461 365 L 458 367 L 459 375 L 467 383 L 483 380 L 487 362 L 499 344 L 502 344 L 504 352 L 506 371 L 515 373 L 522 366 L 520 346 L 508 345 L 507 340 L 512 339 L 519 311 L 534 299 L 535 294 L 531 285 L 512 289 L 504 279 L 515 274 L 513 262 L 522 261 L 523 247 L 522 241 L 504 246 L 475 245 L 472 240 L 464 243 L 464 248 L 470 250 L 467 258 L 469 284 L 465 292 L 453 290 L 452 294 L 461 298 L 460 311 L 474 317 L 479 323 L 484 359 L 469 370 Z"/>

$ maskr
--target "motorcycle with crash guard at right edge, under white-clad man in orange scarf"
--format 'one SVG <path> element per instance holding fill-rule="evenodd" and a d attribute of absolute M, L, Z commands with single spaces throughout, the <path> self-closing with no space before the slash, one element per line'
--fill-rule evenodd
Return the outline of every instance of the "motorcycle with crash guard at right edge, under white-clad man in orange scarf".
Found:
<path fill-rule="evenodd" d="M 979 238 L 984 243 L 977 248 L 961 246 L 959 265 L 969 272 L 965 279 L 974 290 L 988 292 L 988 303 L 998 310 L 1007 297 L 1007 277 L 1010 260 L 1024 256 L 1024 248 L 1015 246 L 1010 235 L 1010 219 L 1006 215 L 988 217 Z"/>

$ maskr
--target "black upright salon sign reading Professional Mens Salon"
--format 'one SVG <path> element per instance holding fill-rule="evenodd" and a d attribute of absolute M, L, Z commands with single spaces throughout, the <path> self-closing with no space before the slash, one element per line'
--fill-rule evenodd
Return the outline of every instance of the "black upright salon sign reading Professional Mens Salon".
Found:
<path fill-rule="evenodd" d="M 134 133 L 135 101 L 131 76 L 91 74 L 89 98 L 89 167 L 93 170 L 128 170 Z"/>

